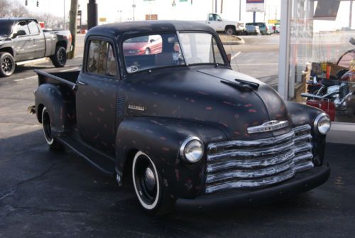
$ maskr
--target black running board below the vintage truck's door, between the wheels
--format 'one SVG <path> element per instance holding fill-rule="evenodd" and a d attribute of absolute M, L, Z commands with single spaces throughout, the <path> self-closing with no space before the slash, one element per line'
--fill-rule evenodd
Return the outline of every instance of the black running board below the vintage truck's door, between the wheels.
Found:
<path fill-rule="evenodd" d="M 97 168 L 102 173 L 114 176 L 116 166 L 114 158 L 104 155 L 103 153 L 99 153 L 99 151 L 90 148 L 86 144 L 82 143 L 82 141 L 78 141 L 72 136 L 56 137 L 56 139 L 60 141 L 60 143 L 71 148 L 72 151 L 77 153 L 79 156 L 86 159 L 92 166 Z"/>

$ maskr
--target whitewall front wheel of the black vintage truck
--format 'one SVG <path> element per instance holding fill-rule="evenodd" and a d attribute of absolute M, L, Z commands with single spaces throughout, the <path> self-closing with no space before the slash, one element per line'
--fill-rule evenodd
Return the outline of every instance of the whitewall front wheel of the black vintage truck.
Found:
<path fill-rule="evenodd" d="M 133 158 L 132 177 L 134 190 L 144 210 L 155 215 L 165 215 L 173 210 L 175 200 L 163 186 L 154 162 L 142 151 Z"/>

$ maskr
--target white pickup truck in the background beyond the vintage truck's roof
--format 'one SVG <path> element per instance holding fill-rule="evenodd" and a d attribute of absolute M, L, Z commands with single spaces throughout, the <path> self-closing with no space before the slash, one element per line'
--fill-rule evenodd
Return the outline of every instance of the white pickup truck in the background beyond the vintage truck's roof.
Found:
<path fill-rule="evenodd" d="M 224 32 L 227 35 L 245 35 L 246 28 L 244 23 L 238 21 L 226 21 L 217 13 L 209 13 L 206 21 L 195 21 L 205 23 L 214 28 L 214 31 Z"/>

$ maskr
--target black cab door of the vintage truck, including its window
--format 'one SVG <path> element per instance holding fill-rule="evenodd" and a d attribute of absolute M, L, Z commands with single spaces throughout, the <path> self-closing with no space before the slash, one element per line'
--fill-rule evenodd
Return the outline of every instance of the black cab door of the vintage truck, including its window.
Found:
<path fill-rule="evenodd" d="M 105 38 L 90 38 L 86 45 L 77 80 L 77 128 L 82 141 L 114 155 L 119 87 L 114 45 Z"/>

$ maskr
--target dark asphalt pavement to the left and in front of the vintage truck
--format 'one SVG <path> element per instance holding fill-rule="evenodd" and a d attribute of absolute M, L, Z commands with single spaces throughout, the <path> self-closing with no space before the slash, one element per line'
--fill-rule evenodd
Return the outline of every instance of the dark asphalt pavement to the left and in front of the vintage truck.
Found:
<path fill-rule="evenodd" d="M 62 70 L 80 67 L 69 60 Z M 49 151 L 26 109 L 38 82 L 33 68 L 0 78 L 0 237 L 354 237 L 355 146 L 327 144 L 327 183 L 281 202 L 219 210 L 177 206 L 146 215 L 123 190 L 67 149 Z"/>

